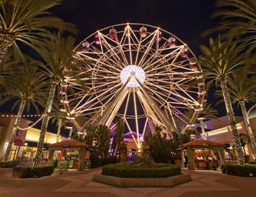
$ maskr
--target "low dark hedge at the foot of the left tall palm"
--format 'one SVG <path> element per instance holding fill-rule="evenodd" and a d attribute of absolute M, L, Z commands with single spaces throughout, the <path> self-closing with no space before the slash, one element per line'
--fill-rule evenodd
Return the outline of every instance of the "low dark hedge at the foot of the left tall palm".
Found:
<path fill-rule="evenodd" d="M 53 174 L 53 166 L 26 167 L 17 166 L 12 169 L 12 177 L 31 178 L 44 177 Z"/>

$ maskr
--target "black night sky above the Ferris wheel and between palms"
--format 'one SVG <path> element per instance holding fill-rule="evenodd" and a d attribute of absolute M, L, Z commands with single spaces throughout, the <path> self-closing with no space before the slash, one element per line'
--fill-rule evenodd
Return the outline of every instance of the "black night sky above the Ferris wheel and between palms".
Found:
<path fill-rule="evenodd" d="M 175 34 L 187 43 L 195 55 L 200 55 L 199 46 L 207 44 L 207 39 L 201 34 L 218 23 L 218 20 L 211 19 L 214 10 L 214 0 L 64 0 L 63 4 L 50 11 L 75 23 L 80 31 L 78 42 L 106 26 L 128 22 L 147 23 Z M 208 94 L 208 101 L 213 104 L 217 101 L 214 90 L 211 88 Z M 219 116 L 225 115 L 224 104 L 215 108 Z M 10 110 L 10 106 L 5 105 L 1 109 L 1 112 Z M 235 106 L 234 111 L 236 115 L 241 115 Z"/>

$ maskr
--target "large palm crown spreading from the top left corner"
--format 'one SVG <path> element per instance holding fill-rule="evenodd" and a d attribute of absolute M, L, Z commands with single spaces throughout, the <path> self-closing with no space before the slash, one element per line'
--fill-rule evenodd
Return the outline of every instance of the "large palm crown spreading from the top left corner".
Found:
<path fill-rule="evenodd" d="M 59 4 L 61 0 L 1 0 L 0 63 L 9 47 L 18 50 L 18 42 L 36 49 L 49 29 L 76 33 L 72 23 L 50 15 L 48 9 Z"/>

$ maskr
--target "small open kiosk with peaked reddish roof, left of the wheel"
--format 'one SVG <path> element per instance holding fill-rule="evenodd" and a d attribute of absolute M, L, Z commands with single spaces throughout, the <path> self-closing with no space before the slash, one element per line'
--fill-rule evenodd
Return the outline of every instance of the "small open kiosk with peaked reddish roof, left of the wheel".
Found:
<path fill-rule="evenodd" d="M 63 163 L 64 168 L 83 170 L 89 162 L 88 145 L 70 139 L 48 146 L 48 165 Z"/>

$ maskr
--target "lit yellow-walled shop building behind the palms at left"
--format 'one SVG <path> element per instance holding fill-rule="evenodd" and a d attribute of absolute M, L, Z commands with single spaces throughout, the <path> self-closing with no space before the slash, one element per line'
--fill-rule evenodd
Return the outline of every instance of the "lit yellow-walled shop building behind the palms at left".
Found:
<path fill-rule="evenodd" d="M 15 115 L 0 115 L 0 161 L 4 158 L 4 153 L 7 149 L 7 144 L 10 141 L 12 129 L 15 123 Z M 37 128 L 28 128 L 31 120 L 22 118 L 20 121 L 20 128 L 27 128 L 25 130 L 18 130 L 12 145 L 10 161 L 23 158 L 28 162 L 32 161 L 35 152 L 37 151 L 37 142 L 39 139 L 40 130 Z M 63 136 L 59 141 L 64 140 Z M 45 144 L 53 144 L 57 142 L 57 135 L 52 132 L 46 132 Z M 44 157 L 48 157 L 48 152 L 45 152 Z"/>

